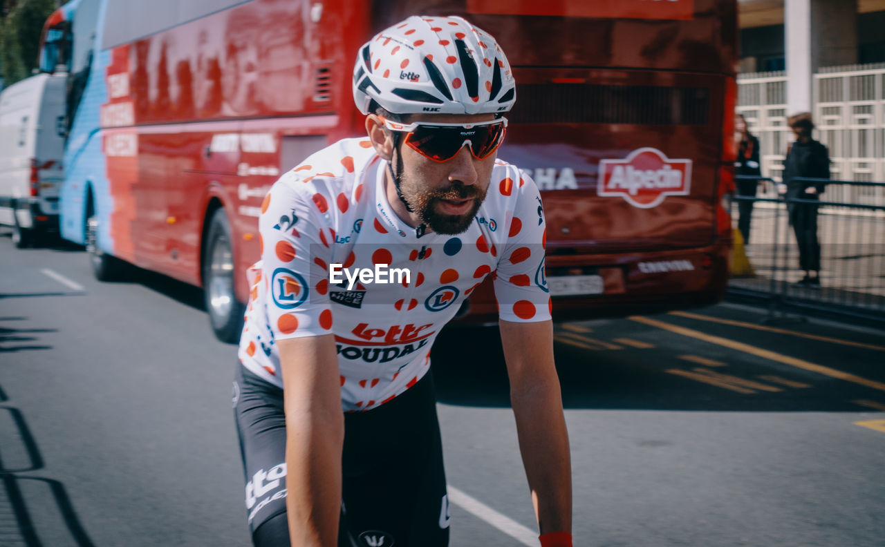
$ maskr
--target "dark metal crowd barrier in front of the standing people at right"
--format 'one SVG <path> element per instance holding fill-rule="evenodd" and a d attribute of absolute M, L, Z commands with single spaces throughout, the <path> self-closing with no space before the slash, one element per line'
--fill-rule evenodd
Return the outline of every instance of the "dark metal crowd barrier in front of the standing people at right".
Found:
<path fill-rule="evenodd" d="M 756 179 L 773 188 L 778 184 L 767 177 L 739 179 Z M 735 195 L 735 226 L 738 204 L 753 204 L 750 239 L 744 246 L 753 271 L 751 275 L 732 277 L 728 292 L 766 299 L 769 318 L 787 309 L 812 308 L 885 325 L 885 201 L 858 203 L 832 197 L 840 195 L 838 189 L 842 186 L 872 189 L 881 196 L 885 184 L 844 180 L 826 183 L 820 200 Z M 797 236 L 790 225 L 788 209 L 794 207 L 812 208 L 817 213 L 820 286 L 799 283 L 805 271 L 799 268 Z"/>

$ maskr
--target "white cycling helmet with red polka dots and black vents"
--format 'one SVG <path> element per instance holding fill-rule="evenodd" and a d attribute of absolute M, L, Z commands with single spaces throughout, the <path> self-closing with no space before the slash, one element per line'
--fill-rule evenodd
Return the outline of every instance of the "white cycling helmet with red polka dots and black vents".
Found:
<path fill-rule="evenodd" d="M 513 74 L 491 36 L 460 17 L 412 16 L 357 54 L 353 99 L 394 114 L 497 114 L 516 101 Z"/>

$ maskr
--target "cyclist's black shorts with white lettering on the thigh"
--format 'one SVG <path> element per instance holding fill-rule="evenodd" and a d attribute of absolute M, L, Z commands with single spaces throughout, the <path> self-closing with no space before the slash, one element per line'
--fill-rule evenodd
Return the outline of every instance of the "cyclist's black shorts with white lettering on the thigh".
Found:
<path fill-rule="evenodd" d="M 256 547 L 289 545 L 282 390 L 239 362 L 234 414 Z M 339 547 L 449 544 L 443 444 L 429 374 L 389 403 L 344 414 Z"/>

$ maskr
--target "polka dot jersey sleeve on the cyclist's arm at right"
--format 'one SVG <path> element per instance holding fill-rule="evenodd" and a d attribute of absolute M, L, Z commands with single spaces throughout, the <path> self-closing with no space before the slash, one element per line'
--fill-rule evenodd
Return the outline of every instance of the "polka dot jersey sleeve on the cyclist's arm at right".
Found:
<path fill-rule="evenodd" d="M 504 321 L 531 323 L 550 319 L 550 292 L 544 277 L 547 224 L 538 187 L 523 171 L 513 188 L 516 205 L 498 256 L 495 297 Z"/>

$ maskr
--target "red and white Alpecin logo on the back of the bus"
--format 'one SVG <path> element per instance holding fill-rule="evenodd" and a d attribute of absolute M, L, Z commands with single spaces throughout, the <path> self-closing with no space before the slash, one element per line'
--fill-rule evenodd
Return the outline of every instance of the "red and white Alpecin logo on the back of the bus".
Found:
<path fill-rule="evenodd" d="M 657 148 L 638 148 L 620 160 L 601 160 L 596 193 L 621 197 L 630 205 L 650 209 L 668 195 L 688 195 L 691 160 L 668 159 Z"/>

